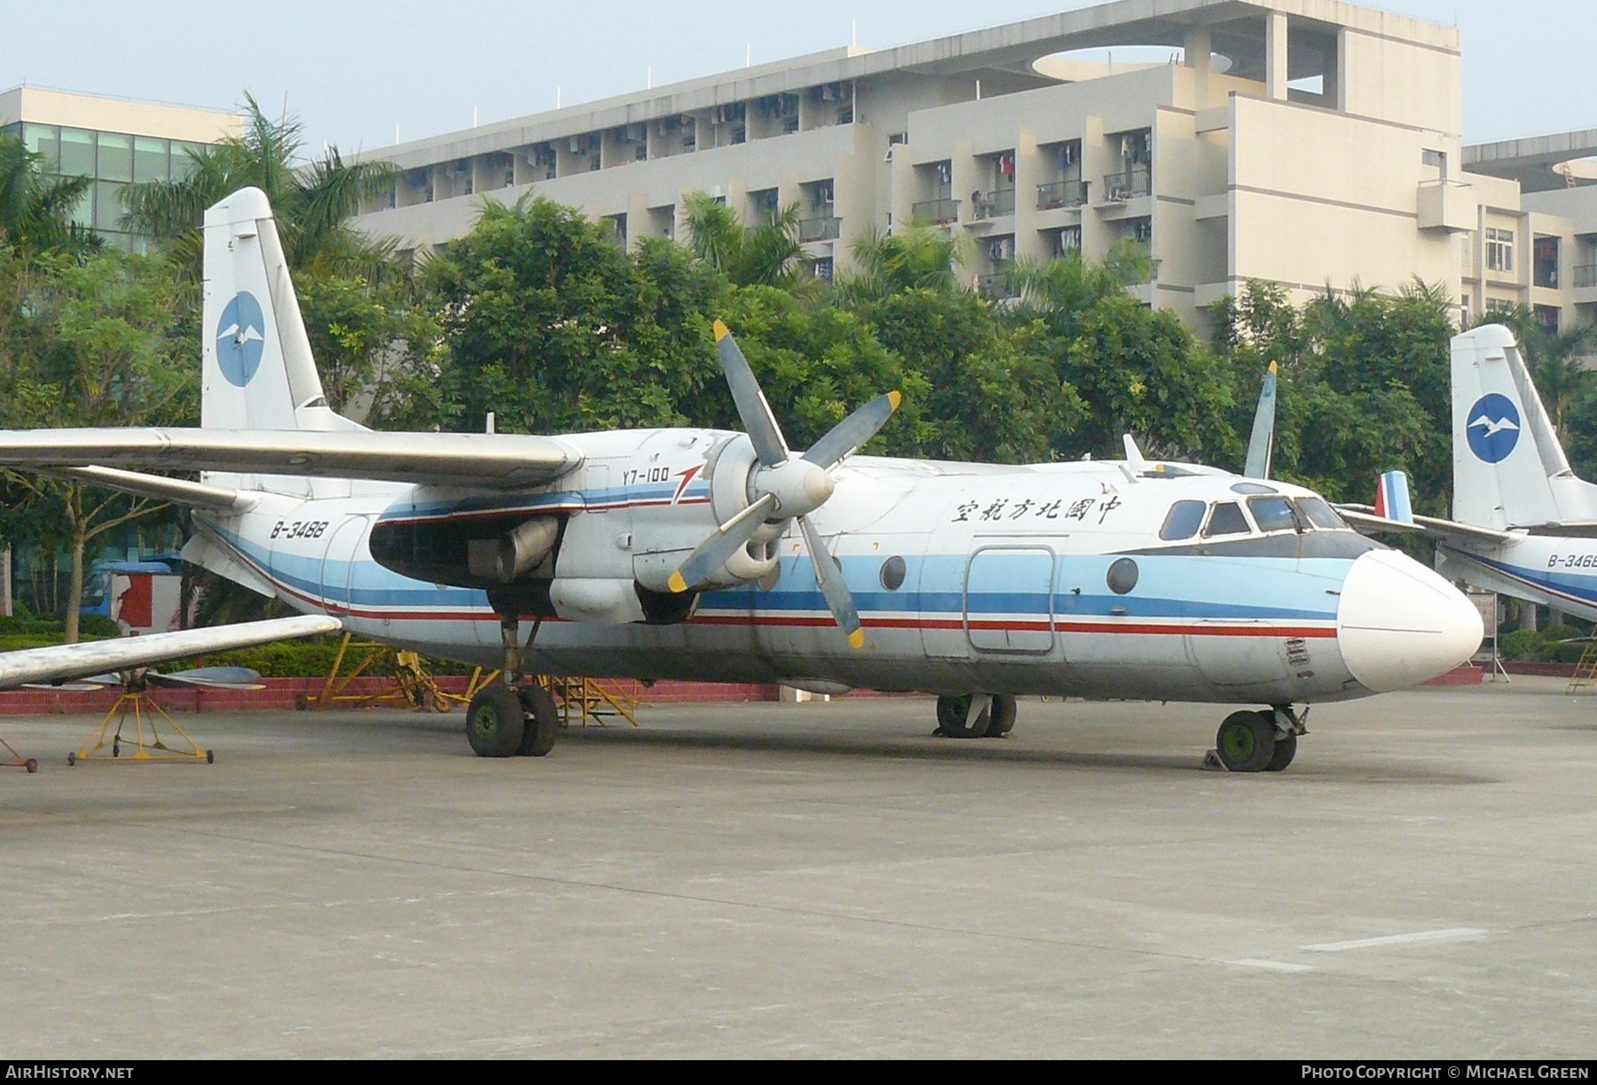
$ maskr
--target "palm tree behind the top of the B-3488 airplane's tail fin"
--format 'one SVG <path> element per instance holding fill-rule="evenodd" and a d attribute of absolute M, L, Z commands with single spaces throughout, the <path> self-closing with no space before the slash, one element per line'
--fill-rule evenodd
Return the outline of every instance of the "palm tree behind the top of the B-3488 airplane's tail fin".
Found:
<path fill-rule="evenodd" d="M 369 281 L 393 273 L 393 241 L 374 241 L 350 230 L 363 197 L 393 184 L 398 168 L 386 161 L 347 165 L 337 147 L 297 166 L 303 147 L 299 118 L 271 120 L 244 93 L 244 131 L 211 147 L 190 150 L 188 176 L 147 181 L 121 190 L 123 224 L 163 243 L 200 276 L 204 209 L 246 185 L 267 193 L 289 267 L 323 268 Z"/>

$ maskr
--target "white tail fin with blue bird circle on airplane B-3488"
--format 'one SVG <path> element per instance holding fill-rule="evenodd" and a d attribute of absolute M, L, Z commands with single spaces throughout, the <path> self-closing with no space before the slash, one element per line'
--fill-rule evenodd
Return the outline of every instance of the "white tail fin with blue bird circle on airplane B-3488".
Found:
<path fill-rule="evenodd" d="M 327 407 L 260 189 L 240 189 L 204 213 L 203 328 L 204 428 L 359 428 Z"/>

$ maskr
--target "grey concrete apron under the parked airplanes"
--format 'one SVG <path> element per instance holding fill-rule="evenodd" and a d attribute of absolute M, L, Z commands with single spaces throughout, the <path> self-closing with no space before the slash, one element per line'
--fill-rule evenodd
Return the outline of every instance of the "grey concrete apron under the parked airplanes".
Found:
<path fill-rule="evenodd" d="M 647 709 L 543 761 L 457 716 L 182 717 L 85 764 L 6 719 L 6 1056 L 1591 1056 L 1597 701 Z"/>

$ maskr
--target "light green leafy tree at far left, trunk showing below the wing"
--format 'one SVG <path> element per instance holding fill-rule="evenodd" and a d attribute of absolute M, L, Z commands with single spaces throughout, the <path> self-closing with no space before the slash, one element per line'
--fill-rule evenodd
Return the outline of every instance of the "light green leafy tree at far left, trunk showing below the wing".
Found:
<path fill-rule="evenodd" d="M 16 284 L 16 280 L 13 280 Z M 180 425 L 196 412 L 192 344 L 172 336 L 176 284 L 145 257 L 104 251 L 81 262 L 38 257 L 37 273 L 8 291 L 6 321 L 21 348 L 0 366 L 0 422 L 8 428 Z M 26 331 L 24 331 L 26 328 Z M 75 478 L 8 473 L 35 513 L 57 524 L 72 556 L 67 642 L 78 638 L 88 543 L 161 508 Z"/>

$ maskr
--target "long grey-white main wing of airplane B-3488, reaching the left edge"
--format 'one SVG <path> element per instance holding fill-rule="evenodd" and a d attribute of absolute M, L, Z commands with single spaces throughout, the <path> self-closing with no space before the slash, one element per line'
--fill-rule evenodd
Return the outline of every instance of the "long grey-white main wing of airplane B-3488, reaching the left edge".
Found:
<path fill-rule="evenodd" d="M 0 430 L 0 467 L 145 468 L 359 478 L 522 489 L 581 463 L 577 449 L 516 433 L 327 430 Z"/>

